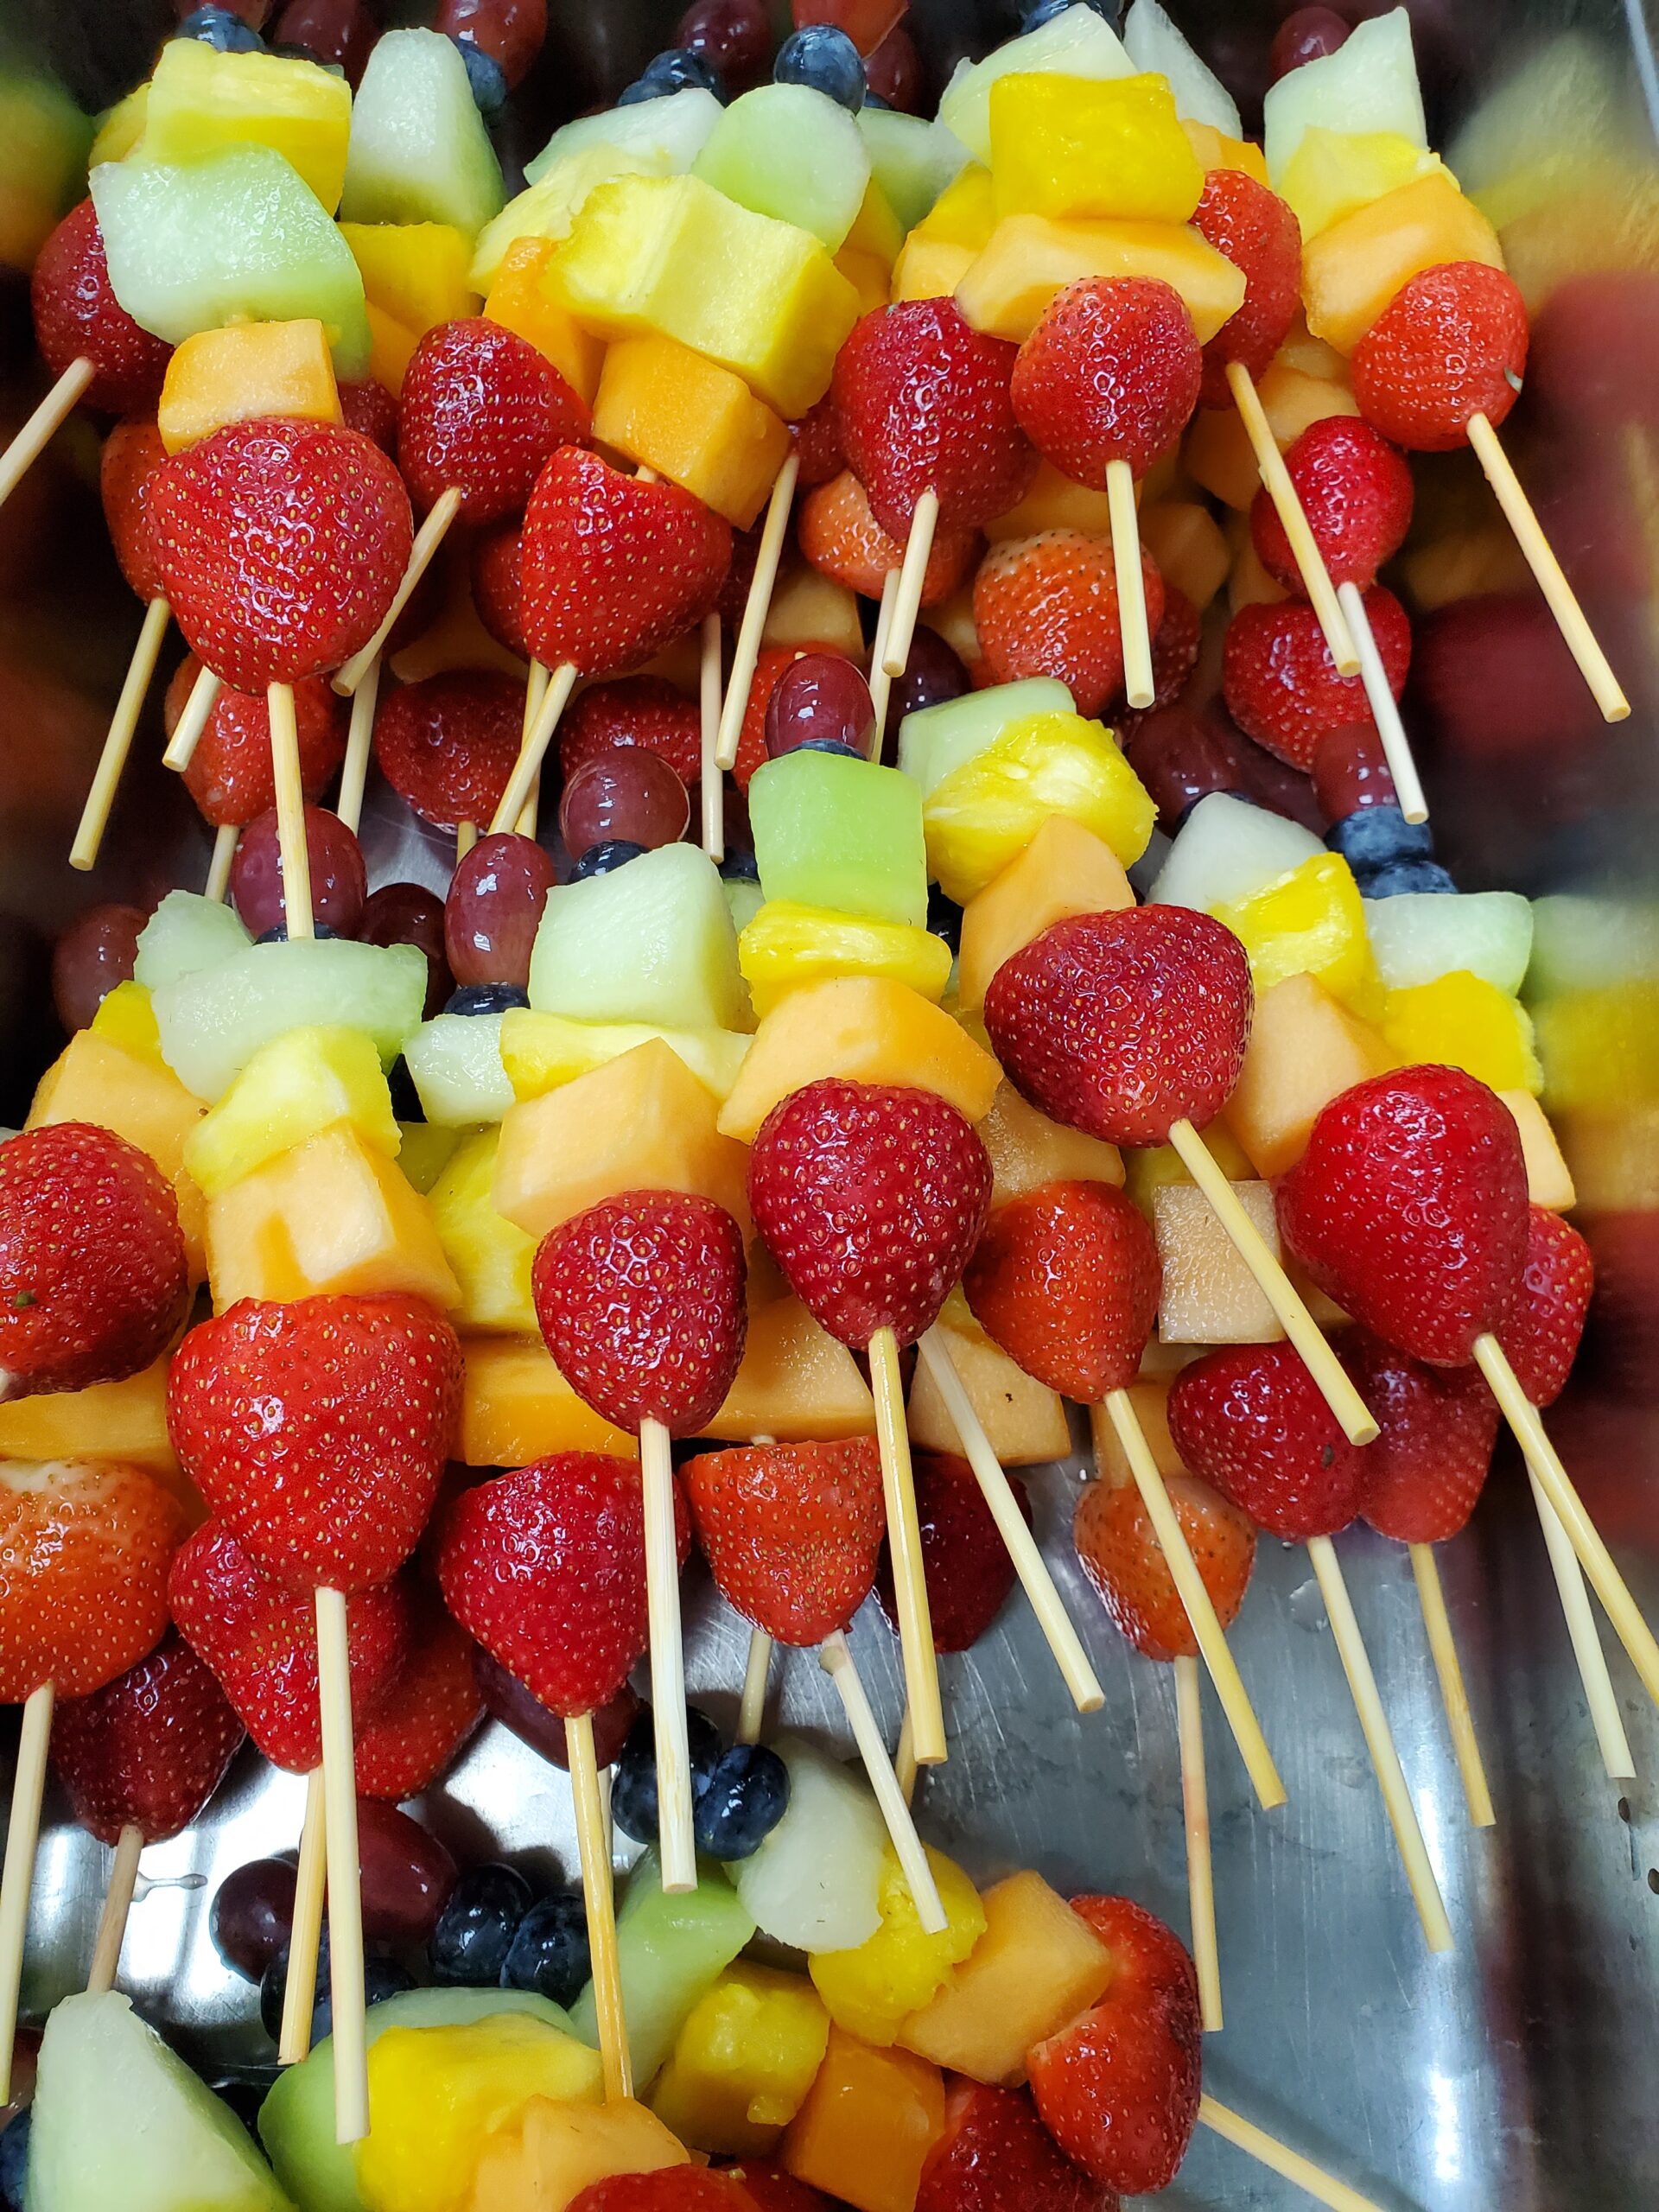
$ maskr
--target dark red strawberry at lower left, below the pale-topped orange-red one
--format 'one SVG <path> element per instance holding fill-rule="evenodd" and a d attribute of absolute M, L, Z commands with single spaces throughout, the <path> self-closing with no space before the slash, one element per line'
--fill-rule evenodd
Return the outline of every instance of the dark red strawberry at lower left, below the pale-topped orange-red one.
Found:
<path fill-rule="evenodd" d="M 168 1630 L 148 1659 L 60 1703 L 51 1761 L 84 1829 L 161 1843 L 201 1814 L 241 1747 L 243 1725 L 204 1659 Z"/>

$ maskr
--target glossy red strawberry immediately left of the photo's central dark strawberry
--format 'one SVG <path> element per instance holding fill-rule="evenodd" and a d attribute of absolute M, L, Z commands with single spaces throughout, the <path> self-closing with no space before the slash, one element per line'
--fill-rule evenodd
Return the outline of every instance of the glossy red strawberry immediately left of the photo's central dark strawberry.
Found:
<path fill-rule="evenodd" d="M 697 1436 L 743 1358 L 743 1232 L 723 1206 L 630 1190 L 549 1230 L 535 1318 L 560 1374 L 617 1429 Z"/>

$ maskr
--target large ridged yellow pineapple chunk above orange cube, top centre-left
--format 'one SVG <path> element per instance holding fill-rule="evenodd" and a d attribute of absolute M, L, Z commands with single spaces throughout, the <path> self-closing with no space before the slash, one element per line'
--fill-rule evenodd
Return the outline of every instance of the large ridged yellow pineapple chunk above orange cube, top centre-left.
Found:
<path fill-rule="evenodd" d="M 597 186 L 553 261 L 555 296 L 606 338 L 661 332 L 787 422 L 830 389 L 858 299 L 823 243 L 701 177 Z"/>

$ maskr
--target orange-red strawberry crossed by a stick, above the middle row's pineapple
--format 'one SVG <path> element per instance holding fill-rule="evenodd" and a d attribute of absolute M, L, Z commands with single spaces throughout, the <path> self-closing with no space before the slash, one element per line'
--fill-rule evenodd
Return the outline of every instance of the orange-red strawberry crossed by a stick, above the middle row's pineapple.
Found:
<path fill-rule="evenodd" d="M 1164 622 L 1164 580 L 1141 551 L 1146 622 Z M 987 677 L 1057 677 L 1079 714 L 1099 714 L 1124 690 L 1124 628 L 1110 538 L 1040 531 L 1004 538 L 973 580 L 973 626 Z"/>

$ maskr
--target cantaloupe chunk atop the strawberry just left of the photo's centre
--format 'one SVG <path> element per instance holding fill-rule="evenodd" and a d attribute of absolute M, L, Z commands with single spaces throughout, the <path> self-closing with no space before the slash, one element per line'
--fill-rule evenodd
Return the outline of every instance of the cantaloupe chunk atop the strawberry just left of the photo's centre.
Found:
<path fill-rule="evenodd" d="M 748 1155 L 721 1135 L 717 1113 L 712 1093 L 653 1037 L 507 1110 L 495 1212 L 542 1239 L 624 1190 L 690 1190 L 723 1206 L 748 1234 Z"/>

